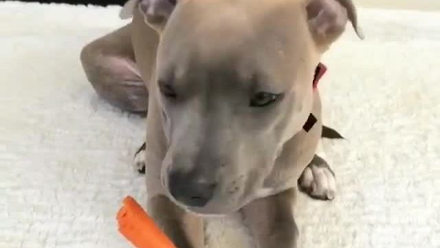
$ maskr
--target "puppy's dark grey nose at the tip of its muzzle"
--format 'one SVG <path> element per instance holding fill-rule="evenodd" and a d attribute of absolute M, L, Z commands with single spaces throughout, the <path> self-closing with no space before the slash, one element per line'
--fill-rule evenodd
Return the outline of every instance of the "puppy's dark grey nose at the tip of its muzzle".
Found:
<path fill-rule="evenodd" d="M 215 183 L 181 172 L 171 172 L 168 180 L 170 194 L 188 207 L 203 207 L 208 204 L 215 186 Z"/>

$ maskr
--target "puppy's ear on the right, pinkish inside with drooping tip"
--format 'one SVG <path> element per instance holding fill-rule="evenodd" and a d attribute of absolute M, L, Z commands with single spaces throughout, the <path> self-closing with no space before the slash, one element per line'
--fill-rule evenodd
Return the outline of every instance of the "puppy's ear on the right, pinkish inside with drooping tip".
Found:
<path fill-rule="evenodd" d="M 364 34 L 358 26 L 358 15 L 351 0 L 307 0 L 307 22 L 318 45 L 330 45 L 351 22 L 360 39 Z"/>

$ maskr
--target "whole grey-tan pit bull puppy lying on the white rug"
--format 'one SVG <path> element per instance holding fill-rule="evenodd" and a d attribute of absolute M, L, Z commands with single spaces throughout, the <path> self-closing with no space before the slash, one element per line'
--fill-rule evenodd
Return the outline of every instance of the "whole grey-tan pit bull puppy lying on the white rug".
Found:
<path fill-rule="evenodd" d="M 81 61 L 109 103 L 148 110 L 136 159 L 158 225 L 177 247 L 201 248 L 203 216 L 240 211 L 258 247 L 296 247 L 296 189 L 335 194 L 315 154 L 312 81 L 347 21 L 363 37 L 353 3 L 129 0 L 121 17 L 132 21 L 86 45 Z"/>

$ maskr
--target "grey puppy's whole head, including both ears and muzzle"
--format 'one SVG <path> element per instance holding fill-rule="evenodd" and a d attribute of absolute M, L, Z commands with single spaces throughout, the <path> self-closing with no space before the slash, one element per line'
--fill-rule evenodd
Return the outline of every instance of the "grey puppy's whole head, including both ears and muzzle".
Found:
<path fill-rule="evenodd" d="M 162 182 L 199 214 L 225 214 L 256 196 L 307 121 L 322 52 L 347 21 L 362 37 L 349 0 L 129 4 L 160 35 L 150 94 L 168 142 Z"/>

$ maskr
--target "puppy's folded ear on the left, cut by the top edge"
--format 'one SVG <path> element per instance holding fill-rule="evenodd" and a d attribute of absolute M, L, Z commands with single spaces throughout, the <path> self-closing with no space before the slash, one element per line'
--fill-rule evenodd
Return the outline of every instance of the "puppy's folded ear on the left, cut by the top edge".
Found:
<path fill-rule="evenodd" d="M 144 16 L 144 21 L 157 31 L 162 30 L 173 12 L 177 0 L 129 0 L 120 11 L 121 19 L 133 17 L 136 8 Z"/>

